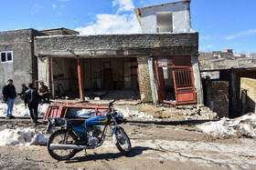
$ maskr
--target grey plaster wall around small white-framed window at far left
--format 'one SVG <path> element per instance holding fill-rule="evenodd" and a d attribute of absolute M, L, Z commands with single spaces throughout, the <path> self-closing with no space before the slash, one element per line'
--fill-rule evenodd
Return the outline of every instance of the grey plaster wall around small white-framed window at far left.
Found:
<path fill-rule="evenodd" d="M 0 63 L 0 89 L 8 79 L 14 80 L 16 91 L 22 84 L 33 82 L 33 36 L 32 29 L 0 32 L 0 52 L 12 51 L 13 61 Z M 37 73 L 37 70 L 35 70 Z M 34 75 L 35 76 L 35 75 Z"/>

